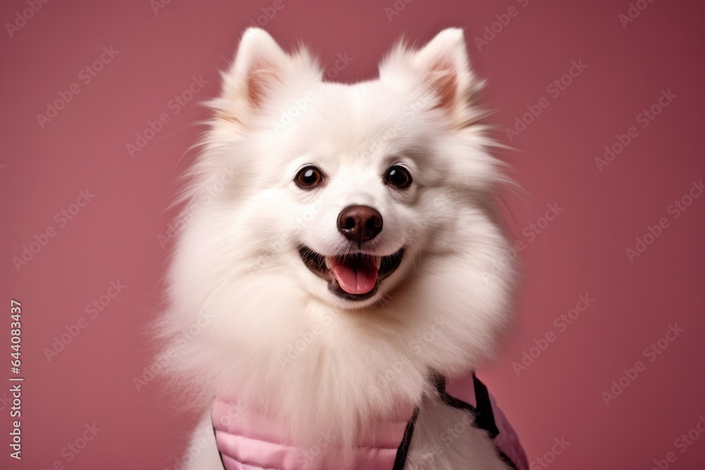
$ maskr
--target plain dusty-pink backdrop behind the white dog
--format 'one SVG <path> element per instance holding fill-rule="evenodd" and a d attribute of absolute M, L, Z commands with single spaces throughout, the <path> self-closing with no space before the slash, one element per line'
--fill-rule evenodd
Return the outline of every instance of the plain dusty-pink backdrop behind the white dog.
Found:
<path fill-rule="evenodd" d="M 8 457 L 8 386 L 0 388 L 1 467 L 174 468 L 188 420 L 164 404 L 156 383 L 140 391 L 133 384 L 146 364 L 142 333 L 159 302 L 170 246 L 163 249 L 157 237 L 174 215 L 165 208 L 175 178 L 192 158 L 183 154 L 201 131 L 193 124 L 208 116 L 197 101 L 214 97 L 217 70 L 231 59 L 240 31 L 273 3 L 173 0 L 155 14 L 148 0 L 51 1 L 12 37 L 2 33 L 0 338 L 9 342 L 9 299 L 18 299 L 25 391 L 18 464 Z M 374 77 L 400 35 L 425 41 L 443 27 L 465 28 L 477 73 L 489 79 L 483 102 L 495 111 L 496 135 L 518 150 L 501 156 L 529 194 L 526 204 L 512 202 L 515 237 L 525 242 L 520 328 L 501 361 L 484 371 L 529 460 L 548 452 L 555 469 L 651 469 L 674 452 L 670 468 L 703 468 L 705 435 L 685 452 L 675 441 L 705 415 L 705 197 L 678 218 L 668 207 L 705 177 L 705 5 L 654 1 L 623 27 L 626 0 L 396 3 L 405 8 L 389 20 L 384 8 L 393 0 L 283 0 L 265 27 L 285 47 L 304 40 L 325 63 L 349 54 L 354 60 L 340 73 L 348 81 Z M 473 38 L 510 6 L 517 15 L 479 48 Z M 25 8 L 25 1 L 4 1 L 0 19 L 15 22 Z M 111 46 L 119 53 L 85 83 L 80 70 Z M 587 68 L 554 97 L 546 87 L 571 61 Z M 207 85 L 174 113 L 169 101 L 193 76 Z M 37 113 L 73 83 L 80 93 L 40 127 Z M 677 97 L 642 128 L 637 115 L 669 89 Z M 509 142 L 505 128 L 541 97 L 548 107 Z M 130 158 L 126 144 L 161 113 L 168 123 Z M 595 158 L 630 126 L 637 137 L 599 171 Z M 94 197 L 71 221 L 55 218 L 86 188 Z M 562 211 L 546 224 L 547 204 Z M 625 249 L 661 218 L 668 227 L 655 240 L 647 236 L 653 243 L 630 261 Z M 531 223 L 541 232 L 532 235 Z M 18 271 L 13 256 L 50 227 L 55 236 Z M 90 318 L 87 304 L 118 280 L 126 287 Z M 580 295 L 594 302 L 561 330 L 554 319 Z M 86 328 L 48 361 L 44 348 L 80 317 Z M 676 324 L 683 332 L 661 342 L 667 349 L 645 356 Z M 533 364 L 517 376 L 512 362 L 546 334 L 553 342 L 534 350 Z M 12 375 L 6 359 L 2 380 Z M 602 392 L 637 361 L 645 369 L 607 406 Z M 92 423 L 101 429 L 94 440 L 78 455 L 62 454 Z M 552 453 L 554 438 L 570 445 Z M 537 461 L 534 468 L 543 467 Z"/>

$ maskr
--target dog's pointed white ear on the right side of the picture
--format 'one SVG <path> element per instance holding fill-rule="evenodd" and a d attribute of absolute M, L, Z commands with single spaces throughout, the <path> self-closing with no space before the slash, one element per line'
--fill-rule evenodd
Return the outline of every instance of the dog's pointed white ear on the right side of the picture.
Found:
<path fill-rule="evenodd" d="M 468 124 L 469 105 L 483 84 L 470 70 L 465 35 L 460 28 L 451 27 L 439 32 L 417 51 L 400 45 L 380 68 L 380 75 L 389 74 L 389 69 L 399 66 L 421 80 L 438 99 L 436 108 L 446 111 L 455 124 Z"/>

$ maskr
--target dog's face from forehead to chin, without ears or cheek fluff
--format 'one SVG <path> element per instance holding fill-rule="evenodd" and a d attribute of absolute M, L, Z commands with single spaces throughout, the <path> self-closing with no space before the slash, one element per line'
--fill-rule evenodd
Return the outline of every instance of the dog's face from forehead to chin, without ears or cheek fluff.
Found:
<path fill-rule="evenodd" d="M 295 122 L 262 140 L 286 149 L 271 167 L 281 171 L 276 199 L 298 216 L 278 219 L 288 235 L 282 255 L 312 295 L 368 306 L 408 276 L 427 245 L 418 225 L 432 215 L 424 199 L 443 173 L 433 155 L 439 126 L 422 114 L 434 99 L 410 101 L 380 82 L 314 86 Z"/>

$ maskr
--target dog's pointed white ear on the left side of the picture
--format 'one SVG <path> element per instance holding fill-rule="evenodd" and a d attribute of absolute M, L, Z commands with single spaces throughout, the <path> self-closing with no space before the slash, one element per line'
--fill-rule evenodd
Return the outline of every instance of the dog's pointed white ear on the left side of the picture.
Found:
<path fill-rule="evenodd" d="M 240 39 L 233 66 L 221 73 L 223 89 L 215 100 L 216 117 L 243 124 L 262 110 L 267 95 L 302 65 L 316 70 L 305 49 L 287 54 L 259 27 L 249 27 Z"/>

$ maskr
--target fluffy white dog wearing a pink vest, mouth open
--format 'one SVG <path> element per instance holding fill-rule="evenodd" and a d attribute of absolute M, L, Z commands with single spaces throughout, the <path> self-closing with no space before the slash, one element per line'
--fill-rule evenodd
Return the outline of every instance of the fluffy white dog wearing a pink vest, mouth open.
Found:
<path fill-rule="evenodd" d="M 517 280 L 481 85 L 459 29 L 353 85 L 245 32 L 158 328 L 160 364 L 204 413 L 190 469 L 523 468 L 470 375 Z"/>

